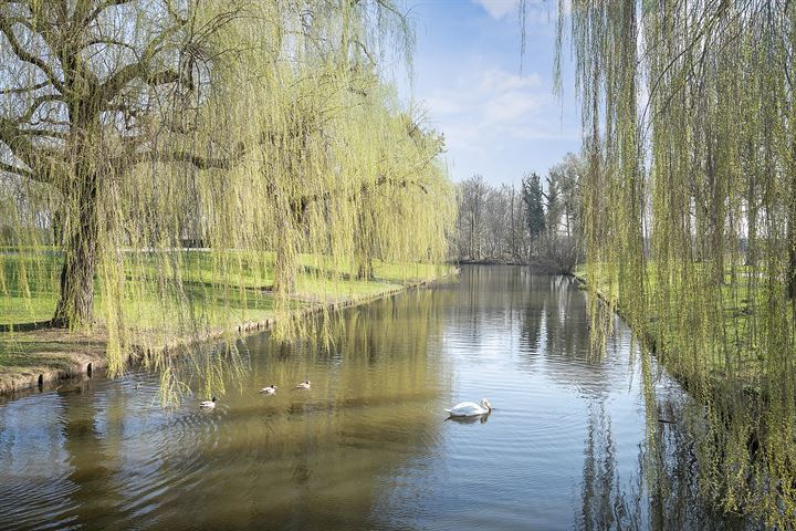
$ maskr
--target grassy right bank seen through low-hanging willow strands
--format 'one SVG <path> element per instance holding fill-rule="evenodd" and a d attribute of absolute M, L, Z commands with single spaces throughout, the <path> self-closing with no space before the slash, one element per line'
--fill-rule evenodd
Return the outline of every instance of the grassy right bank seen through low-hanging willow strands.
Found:
<path fill-rule="evenodd" d="M 616 271 L 591 266 L 576 277 L 699 404 L 678 424 L 694 441 L 705 496 L 753 527 L 794 529 L 796 317 L 783 275 L 732 263 L 723 278 L 704 263 L 687 263 L 683 274 L 651 263 L 642 279 L 620 288 Z"/>

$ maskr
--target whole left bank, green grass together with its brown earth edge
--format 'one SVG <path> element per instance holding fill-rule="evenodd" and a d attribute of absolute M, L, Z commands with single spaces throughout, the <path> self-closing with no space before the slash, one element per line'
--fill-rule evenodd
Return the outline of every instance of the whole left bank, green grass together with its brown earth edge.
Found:
<path fill-rule="evenodd" d="M 228 260 L 243 263 L 244 273 L 226 275 Z M 129 253 L 124 261 L 122 308 L 134 343 L 146 343 L 140 350 L 265 330 L 277 317 L 276 295 L 270 291 L 273 256 L 253 259 L 228 253 L 219 260 L 206 251 L 180 250 L 168 263 L 147 253 Z M 291 313 L 356 304 L 454 271 L 450 266 L 377 261 L 375 278 L 364 281 L 322 257 L 302 256 L 300 261 L 296 290 L 286 301 Z M 42 323 L 52 316 L 57 302 L 61 256 L 13 250 L 0 254 L 0 267 L 4 268 L 0 285 L 0 393 L 44 386 L 105 365 L 108 308 L 101 290 L 96 290 L 97 325 L 92 332 L 53 330 Z M 156 280 L 163 278 L 158 275 L 161 268 L 170 268 L 171 281 Z"/>

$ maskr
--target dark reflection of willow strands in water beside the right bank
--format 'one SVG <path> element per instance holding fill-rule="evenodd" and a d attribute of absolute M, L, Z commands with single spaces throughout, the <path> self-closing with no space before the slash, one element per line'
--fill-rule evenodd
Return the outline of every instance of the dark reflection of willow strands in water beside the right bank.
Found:
<path fill-rule="evenodd" d="M 702 437 L 701 408 L 673 383 L 653 389 L 656 409 L 647 416 L 647 440 L 639 445 L 637 467 L 627 478 L 617 469 L 611 417 L 605 403 L 589 408 L 584 449 L 578 527 L 603 529 L 764 529 L 741 516 L 715 510 L 700 491 L 696 440 Z M 663 421 L 661 421 L 661 419 Z M 675 419 L 675 420 L 673 420 Z"/>

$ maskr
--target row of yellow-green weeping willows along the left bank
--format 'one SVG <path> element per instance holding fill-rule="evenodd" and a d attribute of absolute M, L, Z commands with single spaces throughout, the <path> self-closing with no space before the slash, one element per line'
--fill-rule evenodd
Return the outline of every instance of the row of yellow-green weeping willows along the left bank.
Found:
<path fill-rule="evenodd" d="M 0 2 L 0 246 L 33 251 L 0 293 L 51 287 L 50 324 L 101 325 L 112 374 L 145 344 L 168 375 L 146 312 L 198 335 L 197 295 L 286 316 L 307 269 L 441 261 L 442 138 L 388 75 L 410 48 L 389 0 Z"/>

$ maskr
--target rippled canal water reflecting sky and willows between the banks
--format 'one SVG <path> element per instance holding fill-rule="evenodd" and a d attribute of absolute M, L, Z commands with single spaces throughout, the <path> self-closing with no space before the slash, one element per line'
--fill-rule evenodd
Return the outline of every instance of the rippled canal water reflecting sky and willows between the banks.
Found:
<path fill-rule="evenodd" d="M 327 348 L 249 337 L 211 412 L 143 373 L 2 403 L 0 529 L 735 527 L 699 499 L 681 389 L 654 365 L 645 387 L 618 320 L 589 355 L 587 323 L 568 278 L 465 267 L 345 311 Z"/>

